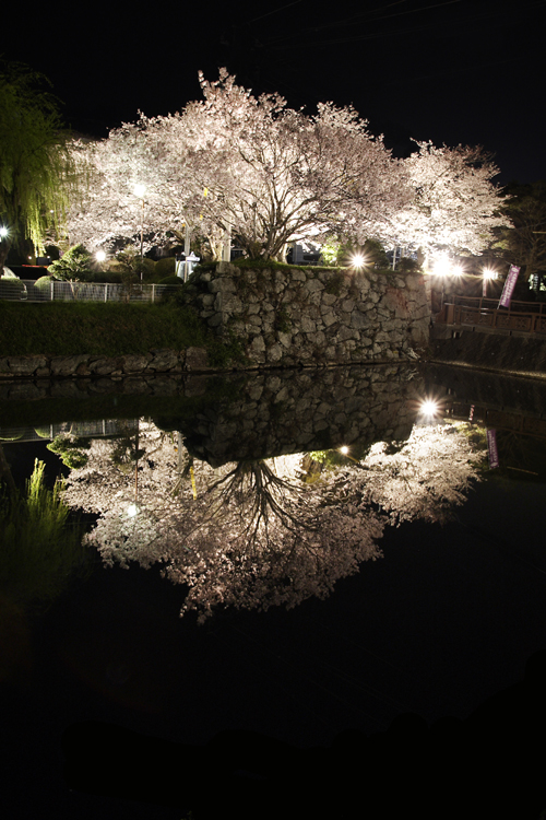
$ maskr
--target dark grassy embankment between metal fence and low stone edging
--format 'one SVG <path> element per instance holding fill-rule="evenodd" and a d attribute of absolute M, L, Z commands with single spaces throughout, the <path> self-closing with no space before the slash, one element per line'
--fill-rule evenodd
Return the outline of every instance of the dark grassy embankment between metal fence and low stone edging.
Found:
<path fill-rule="evenodd" d="M 221 366 L 237 359 L 187 307 L 166 304 L 0 301 L 0 356 L 145 354 L 169 348 L 206 348 Z"/>

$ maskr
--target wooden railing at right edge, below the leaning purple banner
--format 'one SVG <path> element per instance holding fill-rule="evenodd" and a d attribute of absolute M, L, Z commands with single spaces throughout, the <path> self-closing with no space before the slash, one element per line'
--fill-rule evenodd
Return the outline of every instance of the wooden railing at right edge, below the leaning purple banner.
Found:
<path fill-rule="evenodd" d="M 436 324 L 473 327 L 476 330 L 546 333 L 546 303 L 512 302 L 499 307 L 498 300 L 454 296 L 443 305 Z"/>

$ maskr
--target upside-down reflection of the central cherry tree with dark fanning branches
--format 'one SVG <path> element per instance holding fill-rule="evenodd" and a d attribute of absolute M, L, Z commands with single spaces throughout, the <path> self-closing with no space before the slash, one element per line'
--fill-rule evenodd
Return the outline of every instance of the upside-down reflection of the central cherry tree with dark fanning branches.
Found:
<path fill-rule="evenodd" d="M 165 572 L 189 587 L 182 613 L 197 609 L 203 620 L 221 604 L 290 608 L 327 597 L 339 578 L 379 557 L 380 517 L 340 490 L 325 497 L 266 461 L 234 466 L 191 518 L 180 511 L 169 522 Z"/>

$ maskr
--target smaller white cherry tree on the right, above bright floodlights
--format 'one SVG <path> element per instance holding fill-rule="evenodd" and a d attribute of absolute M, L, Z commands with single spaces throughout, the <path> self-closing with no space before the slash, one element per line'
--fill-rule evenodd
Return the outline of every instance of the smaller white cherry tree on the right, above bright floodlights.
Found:
<path fill-rule="evenodd" d="M 507 224 L 501 190 L 491 181 L 498 168 L 480 148 L 416 144 L 404 161 L 413 197 L 399 214 L 397 243 L 424 254 L 435 248 L 482 253 L 494 230 Z"/>

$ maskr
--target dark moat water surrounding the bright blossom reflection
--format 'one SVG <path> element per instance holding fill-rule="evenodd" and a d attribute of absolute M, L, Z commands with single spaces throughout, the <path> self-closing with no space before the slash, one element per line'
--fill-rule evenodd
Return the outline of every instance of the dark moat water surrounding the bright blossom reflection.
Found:
<path fill-rule="evenodd" d="M 464 803 L 466 787 L 473 792 L 472 777 L 484 760 L 494 760 L 503 737 L 512 748 L 499 752 L 500 780 L 465 816 L 515 816 L 512 809 L 499 813 L 513 799 L 517 816 L 538 820 L 546 808 L 542 775 L 533 774 L 526 758 L 520 771 L 510 755 L 521 743 L 521 760 L 527 748 L 525 721 L 544 738 L 544 716 L 533 711 L 527 690 L 520 694 L 527 661 L 546 649 L 546 393 L 539 383 L 391 367 L 257 374 L 227 386 L 164 380 L 159 387 L 134 384 L 132 393 L 127 385 L 114 384 L 109 391 L 103 385 L 98 398 L 96 390 L 62 396 L 66 388 L 41 387 L 43 399 L 16 402 L 7 396 L 0 406 L 3 452 L 20 484 L 35 457 L 46 459 L 48 480 L 70 475 L 44 441 L 24 441 L 31 431 L 39 427 L 44 435 L 47 424 L 116 419 L 119 407 L 126 435 L 129 429 L 134 434 L 128 419 L 139 418 L 154 419 L 173 441 L 181 432 L 199 479 L 199 459 L 218 470 L 235 460 L 335 450 L 345 443 L 364 458 L 373 442 L 406 440 L 419 421 L 419 398 L 429 395 L 443 401 L 442 418 L 467 419 L 473 407 L 479 426 L 495 422 L 501 466 L 472 482 L 452 520 L 441 525 L 416 516 L 387 526 L 378 541 L 381 558 L 340 577 L 325 599 L 309 595 L 292 609 L 219 606 L 201 624 L 193 611 L 179 617 L 186 587 L 162 577 L 158 564 L 105 566 L 97 553 L 88 576 L 72 579 L 47 606 L 13 602 L 2 594 L 8 816 L 181 818 L 192 810 L 198 819 L 260 818 L 271 809 L 275 817 L 352 817 L 353 793 L 368 789 L 370 817 L 394 817 L 413 803 L 423 816 L 428 807 L 430 816 L 460 817 L 458 800 Z M 105 414 L 108 401 L 111 412 Z M 7 441 L 10 431 L 21 437 Z M 507 690 L 517 693 L 518 705 L 500 706 L 498 717 L 495 696 L 502 701 Z M 518 708 L 527 707 L 531 717 L 525 712 L 522 718 Z M 494 716 L 482 746 L 471 751 L 464 731 L 474 726 L 473 715 L 489 708 Z M 404 715 L 413 715 L 404 718 L 407 725 L 393 724 Z M 147 738 L 142 754 L 142 739 L 116 735 L 120 728 Z M 435 730 L 439 746 L 424 740 Z M 213 741 L 219 758 L 203 758 Z M 296 762 L 294 750 L 304 755 Z M 444 800 L 431 808 L 422 797 L 435 790 L 431 781 L 438 784 L 439 750 L 453 780 L 440 765 Z M 456 769 L 461 754 L 475 754 L 472 772 Z M 541 754 L 534 762 L 542 765 Z M 230 755 L 235 775 L 226 774 Z M 260 755 L 265 774 L 257 775 L 252 765 Z M 289 776 L 273 759 L 287 761 Z M 371 760 L 381 765 L 373 769 Z M 313 799 L 293 812 L 283 788 L 289 781 L 286 794 L 296 794 L 295 771 L 300 785 L 309 784 L 301 793 L 309 789 Z M 322 801 L 328 772 L 348 780 L 334 797 L 325 788 Z M 396 798 L 391 778 L 402 789 Z M 272 795 L 282 796 L 280 806 Z"/>

